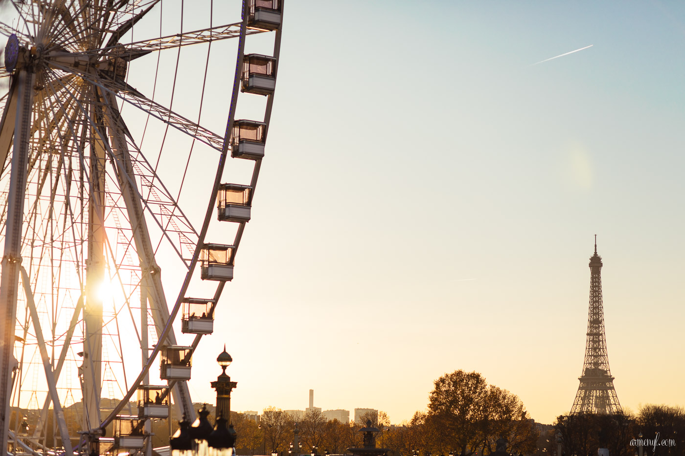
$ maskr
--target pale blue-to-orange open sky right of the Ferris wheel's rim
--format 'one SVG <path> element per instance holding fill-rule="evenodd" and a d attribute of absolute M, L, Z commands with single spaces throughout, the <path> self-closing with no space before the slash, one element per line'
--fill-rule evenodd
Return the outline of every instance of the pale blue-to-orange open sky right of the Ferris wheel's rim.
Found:
<path fill-rule="evenodd" d="M 312 388 L 401 422 L 462 369 L 553 422 L 595 234 L 621 405 L 685 405 L 684 38 L 676 2 L 288 1 L 230 331 L 201 346 L 232 407 Z"/>

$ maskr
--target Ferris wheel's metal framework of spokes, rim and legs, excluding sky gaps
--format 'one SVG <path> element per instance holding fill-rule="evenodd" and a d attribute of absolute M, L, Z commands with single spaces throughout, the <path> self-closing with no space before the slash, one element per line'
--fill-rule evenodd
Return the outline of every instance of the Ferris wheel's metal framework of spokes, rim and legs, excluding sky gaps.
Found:
<path fill-rule="evenodd" d="M 5 47 L 5 70 L 0 71 L 0 79 L 11 79 L 0 121 L 0 177 L 8 177 L 6 180 L 9 186 L 5 200 L 0 203 L 0 240 L 3 240 L 4 244 L 0 279 L 0 448 L 3 452 L 8 448 L 8 440 L 12 440 L 14 448 L 21 447 L 27 453 L 38 454 L 36 444 L 40 446 L 36 440 L 22 438 L 16 430 L 13 432 L 10 429 L 12 394 L 20 388 L 23 353 L 29 333 L 35 338 L 48 389 L 34 437 L 36 434 L 40 435 L 40 427 L 45 426 L 47 411 L 52 405 L 55 427 L 60 434 L 65 454 L 73 454 L 72 440 L 79 440 L 77 450 L 80 453 L 90 454 L 94 448 L 92 443 L 103 436 L 105 427 L 117 420 L 136 390 L 149 384 L 149 371 L 160 352 L 169 346 L 177 345 L 173 323 L 177 320 L 182 306 L 201 301 L 207 305 L 207 312 L 203 317 L 212 318 L 225 282 L 232 279 L 236 251 L 245 224 L 249 220 L 249 208 L 256 190 L 264 155 L 264 143 L 271 121 L 284 0 L 242 0 L 239 22 L 189 32 L 181 30 L 177 34 L 121 44 L 120 40 L 129 36 L 128 32 L 136 23 L 154 11 L 155 6 L 160 5 L 161 8 L 161 3 L 162 0 L 150 0 L 142 5 L 136 0 L 54 0 L 29 3 L 12 1 L 12 8 L 21 19 L 20 25 L 14 29 L 0 22 L 0 34 L 8 36 L 8 45 Z M 181 8 L 183 11 L 183 6 Z M 247 37 L 264 32 L 274 32 L 273 54 L 245 55 Z M 227 38 L 237 38 L 238 45 L 223 136 L 203 127 L 200 124 L 200 114 L 197 122 L 191 121 L 187 116 L 172 110 L 171 106 L 166 107 L 164 103 L 155 101 L 154 97 L 146 97 L 127 83 L 127 65 L 137 58 L 149 53 L 159 55 L 163 51 L 190 45 L 211 45 L 214 41 Z M 209 62 L 209 51 L 207 55 Z M 236 121 L 236 105 L 240 92 L 266 97 L 263 121 Z M 186 217 L 178 201 L 158 176 L 156 165 L 153 166 L 147 160 L 142 148 L 139 147 L 140 144 L 136 144 L 122 114 L 124 106 L 132 106 L 131 109 L 135 107 L 145 113 L 147 118 L 156 119 L 166 129 L 172 127 L 181 131 L 192 138 L 193 144 L 197 141 L 219 151 L 208 207 L 201 223 L 196 222 L 194 225 Z M 202 102 L 200 112 L 201 109 Z M 243 131 L 250 135 L 254 133 L 256 136 L 248 135 L 243 141 L 240 138 Z M 229 152 L 232 157 L 253 162 L 249 184 L 222 183 Z M 45 160 L 45 169 L 36 171 L 37 167 L 42 165 L 42 154 L 52 155 L 48 155 Z M 66 162 L 69 162 L 69 173 L 66 172 Z M 56 168 L 53 167 L 55 163 Z M 69 188 L 74 185 L 71 166 L 74 166 L 81 176 L 80 216 L 77 216 L 69 205 Z M 140 177 L 145 175 L 140 168 L 144 168 L 151 176 L 152 183 L 148 181 L 147 186 L 145 177 Z M 184 179 L 187 171 L 188 163 Z M 42 229 L 43 224 L 55 222 L 51 218 L 51 211 L 55 205 L 60 205 L 60 202 L 55 203 L 60 182 L 66 188 L 66 196 L 62 196 L 66 203 L 60 200 L 64 205 L 60 210 L 64 210 L 64 214 L 60 212 L 59 216 L 55 216 L 55 220 L 64 223 L 65 226 L 66 220 L 71 220 L 73 224 L 78 221 L 82 225 L 87 225 L 87 236 L 82 233 L 80 238 L 72 227 L 71 230 L 75 234 L 70 241 L 74 251 L 77 250 L 79 242 L 81 249 L 85 246 L 87 256 L 77 256 L 73 261 L 76 265 L 73 268 L 77 271 L 80 294 L 77 299 L 72 299 L 75 302 L 68 329 L 58 338 L 54 335 L 53 329 L 52 339 L 46 340 L 45 329 L 40 327 L 41 318 L 35 299 L 39 294 L 36 284 L 38 273 L 25 268 L 22 255 L 28 252 L 27 256 L 33 261 L 34 252 L 31 249 L 42 249 L 39 255 L 46 255 L 43 252 L 50 248 L 50 242 L 46 240 L 47 234 L 42 246 L 34 245 L 36 227 Z M 49 191 L 45 190 L 47 183 Z M 100 404 L 101 364 L 104 360 L 103 301 L 97 296 L 97 287 L 105 280 L 108 249 L 114 257 L 105 229 L 105 218 L 108 217 L 106 211 L 110 204 L 108 201 L 114 200 L 110 194 L 112 183 L 116 187 L 116 204 L 119 205 L 117 207 L 121 212 L 119 215 L 127 219 L 126 229 L 130 231 L 126 252 L 129 256 L 131 253 L 137 255 L 139 260 L 139 264 L 136 265 L 136 277 L 139 276 L 139 282 L 132 287 L 140 296 L 139 340 L 142 368 L 134 381 L 128 385 L 121 401 L 111 410 L 108 409 L 105 416 L 104 413 L 101 414 Z M 31 192 L 35 194 L 30 194 L 28 190 L 32 185 L 34 187 L 31 188 Z M 84 190 L 86 186 L 87 189 Z M 40 218 L 40 211 L 36 210 L 36 207 L 40 205 L 41 195 L 45 192 L 50 195 L 47 199 L 48 217 Z M 159 197 L 155 192 L 162 196 Z M 179 195 L 180 192 L 181 190 Z M 155 198 L 164 200 L 164 204 L 172 207 L 171 212 L 166 210 L 169 214 L 162 210 L 158 211 L 160 214 L 166 214 L 165 217 L 157 216 L 158 213 L 153 210 L 154 204 L 162 205 L 160 201 L 153 201 L 150 197 L 153 193 Z M 87 194 L 88 201 L 84 199 L 84 194 Z M 227 203 L 229 194 L 234 197 L 240 194 L 245 200 L 242 203 Z M 206 242 L 214 207 L 217 204 L 219 220 L 238 224 L 232 244 Z M 86 214 L 83 214 L 84 208 Z M 112 212 L 116 217 L 117 212 Z M 119 220 L 116 220 L 116 223 L 119 225 Z M 167 303 L 160 266 L 155 258 L 155 252 L 162 240 L 157 246 L 154 245 L 149 224 L 153 229 L 160 231 L 160 238 L 169 242 L 187 268 L 179 292 L 175 299 L 169 300 L 173 305 Z M 178 224 L 182 227 L 177 228 Z M 173 229 L 170 228 L 172 225 Z M 45 228 L 45 233 L 47 231 Z M 171 231 L 174 236 L 178 236 L 179 241 L 174 243 L 171 240 Z M 32 239 L 27 239 L 29 232 L 34 233 Z M 52 227 L 50 233 L 54 233 Z M 184 248 L 192 253 L 190 258 L 184 257 Z M 36 260 L 37 268 L 44 264 L 43 261 L 40 258 Z M 201 267 L 197 268 L 199 263 Z M 118 265 L 114 264 L 115 272 L 118 274 L 117 267 Z M 64 268 L 68 269 L 66 266 Z M 64 274 L 68 273 L 69 271 Z M 60 257 L 57 276 L 52 274 L 50 277 L 54 281 L 55 277 L 60 278 L 61 275 Z M 191 281 L 197 280 L 199 276 L 203 280 L 216 281 L 216 288 L 212 296 L 192 299 L 186 296 L 188 287 Z M 121 283 L 123 284 L 123 280 Z M 55 289 L 60 289 L 60 286 L 53 283 L 51 290 Z M 22 302 L 27 307 L 25 321 L 17 320 L 18 296 L 22 294 Z M 133 294 L 134 292 L 131 292 L 129 297 Z M 55 308 L 58 307 L 55 305 Z M 153 320 L 152 326 L 158 338 L 158 343 L 151 349 L 147 340 L 149 316 Z M 31 327 L 28 324 L 29 320 Z M 56 386 L 67 351 L 73 349 L 75 344 L 81 343 L 73 340 L 75 330 L 79 327 L 83 328 L 83 351 L 79 353 L 83 356 L 83 364 L 79 366 L 79 381 L 84 405 L 84 426 L 80 438 L 70 435 Z M 21 329 L 23 333 L 16 334 L 16 329 Z M 192 343 L 182 347 L 187 349 L 184 353 L 192 355 L 202 336 L 207 333 L 211 333 L 211 330 L 195 332 Z M 49 331 L 48 336 L 50 337 Z M 56 346 L 60 346 L 59 354 L 55 353 Z M 52 356 L 48 353 L 49 347 L 52 349 Z M 15 357 L 16 353 L 21 353 L 18 359 Z M 190 358 L 181 360 L 185 361 L 190 370 Z M 192 401 L 186 380 L 183 378 L 169 377 L 166 394 L 171 392 L 173 395 L 179 414 L 192 416 Z M 145 431 L 149 434 L 149 419 L 142 421 L 145 422 Z M 47 448 L 42 446 L 42 450 L 45 451 Z M 143 452 L 151 454 L 150 438 L 147 438 Z"/>

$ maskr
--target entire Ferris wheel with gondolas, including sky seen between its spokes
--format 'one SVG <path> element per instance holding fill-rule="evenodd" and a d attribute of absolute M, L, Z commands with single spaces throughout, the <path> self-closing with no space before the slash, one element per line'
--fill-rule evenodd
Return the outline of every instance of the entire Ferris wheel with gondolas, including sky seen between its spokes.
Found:
<path fill-rule="evenodd" d="M 194 415 L 192 353 L 251 217 L 282 11 L 0 5 L 3 453 L 43 454 L 50 432 L 66 455 L 99 453 L 109 426 L 112 448 L 150 454 L 171 398 Z"/>

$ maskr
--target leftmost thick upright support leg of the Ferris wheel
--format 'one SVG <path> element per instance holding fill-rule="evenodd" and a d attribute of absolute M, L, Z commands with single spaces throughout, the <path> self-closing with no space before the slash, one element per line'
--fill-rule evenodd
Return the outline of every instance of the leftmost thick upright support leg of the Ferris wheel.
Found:
<path fill-rule="evenodd" d="M 17 74 L 18 103 L 14 124 L 14 148 L 8 211 L 5 231 L 5 251 L 0 277 L 0 452 L 7 451 L 10 427 L 12 377 L 17 362 L 14 358 L 14 325 L 19 267 L 21 266 L 21 235 L 24 218 L 26 176 L 28 173 L 29 138 L 36 73 L 25 69 Z"/>

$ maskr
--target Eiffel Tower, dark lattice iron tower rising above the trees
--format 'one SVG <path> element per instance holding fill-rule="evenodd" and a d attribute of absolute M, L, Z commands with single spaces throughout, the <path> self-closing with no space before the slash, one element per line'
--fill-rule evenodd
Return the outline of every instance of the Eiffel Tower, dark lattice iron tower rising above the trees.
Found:
<path fill-rule="evenodd" d="M 590 311 L 588 312 L 588 338 L 585 344 L 585 362 L 580 385 L 575 393 L 571 414 L 590 413 L 613 415 L 621 413 L 621 404 L 614 390 L 614 377 L 609 370 L 609 357 L 604 335 L 604 309 L 601 301 L 601 257 L 590 257 Z"/>

